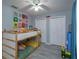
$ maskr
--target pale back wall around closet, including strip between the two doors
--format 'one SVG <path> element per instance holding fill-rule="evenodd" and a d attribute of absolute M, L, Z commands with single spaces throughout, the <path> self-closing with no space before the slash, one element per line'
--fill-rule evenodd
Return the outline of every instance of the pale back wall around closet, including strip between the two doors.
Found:
<path fill-rule="evenodd" d="M 43 20 L 44 18 L 46 18 L 46 16 L 51 16 L 51 17 L 65 16 L 66 17 L 66 34 L 67 34 L 67 32 L 69 31 L 68 29 L 69 24 L 71 24 L 71 12 L 70 11 L 62 11 L 62 12 L 49 13 L 46 15 L 37 16 L 35 17 L 35 20 Z M 47 39 L 50 38 L 48 33 L 49 33 L 49 27 L 47 25 Z"/>

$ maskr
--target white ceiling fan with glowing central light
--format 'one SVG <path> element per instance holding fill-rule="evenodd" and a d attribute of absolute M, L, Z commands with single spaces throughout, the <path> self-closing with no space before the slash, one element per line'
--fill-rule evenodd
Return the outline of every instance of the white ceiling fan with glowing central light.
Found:
<path fill-rule="evenodd" d="M 49 10 L 49 8 L 41 2 L 41 0 L 26 0 L 25 2 L 29 2 L 30 5 L 26 6 L 28 9 L 34 9 L 35 11 L 41 10 Z"/>

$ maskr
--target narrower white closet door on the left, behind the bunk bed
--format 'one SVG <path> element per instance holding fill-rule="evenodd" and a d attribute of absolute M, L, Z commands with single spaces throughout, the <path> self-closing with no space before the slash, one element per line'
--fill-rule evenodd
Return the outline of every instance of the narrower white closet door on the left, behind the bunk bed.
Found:
<path fill-rule="evenodd" d="M 46 35 L 46 20 L 35 20 L 35 27 L 41 30 L 41 41 L 46 43 L 47 39 L 47 35 Z"/>

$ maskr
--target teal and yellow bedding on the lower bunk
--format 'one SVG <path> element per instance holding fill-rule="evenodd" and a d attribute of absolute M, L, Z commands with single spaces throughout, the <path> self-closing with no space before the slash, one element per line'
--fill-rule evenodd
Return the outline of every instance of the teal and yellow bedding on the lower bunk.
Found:
<path fill-rule="evenodd" d="M 29 46 L 26 46 L 24 49 L 19 50 L 18 59 L 27 58 L 35 49 L 37 49 L 40 45 L 37 42 L 32 42 Z"/>

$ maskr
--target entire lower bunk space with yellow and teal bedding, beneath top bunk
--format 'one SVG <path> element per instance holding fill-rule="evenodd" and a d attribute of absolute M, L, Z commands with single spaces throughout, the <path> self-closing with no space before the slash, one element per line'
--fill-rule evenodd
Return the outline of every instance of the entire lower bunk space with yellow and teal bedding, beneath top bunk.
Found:
<path fill-rule="evenodd" d="M 40 46 L 40 41 L 37 41 L 34 37 L 18 42 L 18 59 L 27 58 L 33 51 Z"/>

